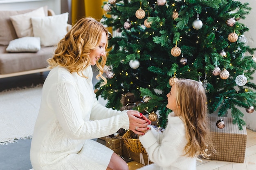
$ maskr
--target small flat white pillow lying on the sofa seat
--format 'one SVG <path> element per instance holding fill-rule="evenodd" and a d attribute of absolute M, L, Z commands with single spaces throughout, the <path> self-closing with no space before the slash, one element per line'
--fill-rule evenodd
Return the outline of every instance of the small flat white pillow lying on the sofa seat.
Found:
<path fill-rule="evenodd" d="M 12 53 L 37 52 L 41 49 L 39 37 L 22 37 L 11 40 L 6 51 Z"/>

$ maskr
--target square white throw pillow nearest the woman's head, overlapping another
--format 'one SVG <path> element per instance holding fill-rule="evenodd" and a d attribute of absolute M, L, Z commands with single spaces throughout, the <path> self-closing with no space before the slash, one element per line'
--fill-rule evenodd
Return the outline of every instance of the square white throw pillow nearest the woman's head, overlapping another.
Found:
<path fill-rule="evenodd" d="M 68 13 L 31 18 L 33 33 L 42 46 L 54 46 L 67 34 Z"/>

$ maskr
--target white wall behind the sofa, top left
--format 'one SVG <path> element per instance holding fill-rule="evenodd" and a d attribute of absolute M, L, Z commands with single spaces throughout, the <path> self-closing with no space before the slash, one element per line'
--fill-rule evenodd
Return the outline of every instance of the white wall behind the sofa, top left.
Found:
<path fill-rule="evenodd" d="M 0 11 L 34 9 L 45 5 L 56 14 L 61 13 L 61 0 L 0 0 Z"/>

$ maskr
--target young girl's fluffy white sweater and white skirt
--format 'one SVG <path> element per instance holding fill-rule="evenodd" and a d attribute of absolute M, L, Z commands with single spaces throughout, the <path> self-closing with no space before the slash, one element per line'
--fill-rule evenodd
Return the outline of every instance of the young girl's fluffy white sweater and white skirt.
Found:
<path fill-rule="evenodd" d="M 153 164 L 139 170 L 195 170 L 196 158 L 182 156 L 187 144 L 183 121 L 174 113 L 168 115 L 168 125 L 164 132 L 154 128 L 140 136 L 139 140 L 148 152 Z"/>

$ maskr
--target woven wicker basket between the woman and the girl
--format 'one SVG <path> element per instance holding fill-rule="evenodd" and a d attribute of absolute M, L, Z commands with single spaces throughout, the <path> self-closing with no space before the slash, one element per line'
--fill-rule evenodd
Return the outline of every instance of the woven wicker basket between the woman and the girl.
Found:
<path fill-rule="evenodd" d="M 147 153 L 145 148 L 140 143 L 139 139 L 132 138 L 134 135 L 135 133 L 131 130 L 127 130 L 126 133 L 123 135 L 122 138 L 126 147 L 135 153 Z"/>

